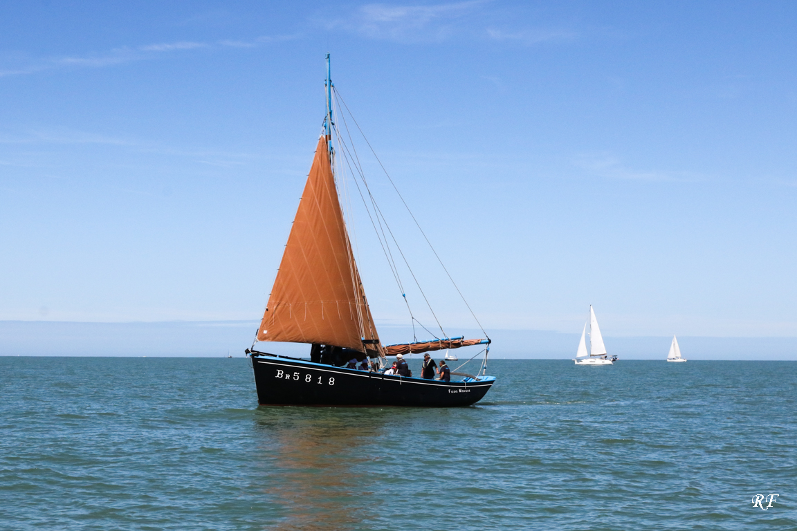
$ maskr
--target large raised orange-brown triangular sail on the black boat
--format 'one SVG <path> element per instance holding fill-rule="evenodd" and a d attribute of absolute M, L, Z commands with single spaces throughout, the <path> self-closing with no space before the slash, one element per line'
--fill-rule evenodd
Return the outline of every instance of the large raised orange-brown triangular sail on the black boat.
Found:
<path fill-rule="evenodd" d="M 382 353 L 319 139 L 258 341 L 316 343 Z"/>

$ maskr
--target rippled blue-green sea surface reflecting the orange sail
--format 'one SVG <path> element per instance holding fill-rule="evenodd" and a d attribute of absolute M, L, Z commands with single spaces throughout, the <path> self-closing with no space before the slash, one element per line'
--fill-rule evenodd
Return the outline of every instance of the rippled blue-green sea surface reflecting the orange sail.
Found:
<path fill-rule="evenodd" d="M 797 363 L 489 373 L 471 408 L 258 408 L 244 358 L 0 357 L 0 528 L 797 529 Z"/>

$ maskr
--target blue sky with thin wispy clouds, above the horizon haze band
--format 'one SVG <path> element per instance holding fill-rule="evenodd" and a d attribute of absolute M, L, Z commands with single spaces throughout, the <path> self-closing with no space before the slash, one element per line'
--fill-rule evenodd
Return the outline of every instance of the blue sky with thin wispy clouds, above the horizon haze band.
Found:
<path fill-rule="evenodd" d="M 609 336 L 795 336 L 795 11 L 4 2 L 0 319 L 259 318 L 330 52 L 488 329 L 577 334 L 593 304 Z M 473 328 L 385 209 L 443 321 Z M 404 324 L 359 221 L 375 316 Z"/>

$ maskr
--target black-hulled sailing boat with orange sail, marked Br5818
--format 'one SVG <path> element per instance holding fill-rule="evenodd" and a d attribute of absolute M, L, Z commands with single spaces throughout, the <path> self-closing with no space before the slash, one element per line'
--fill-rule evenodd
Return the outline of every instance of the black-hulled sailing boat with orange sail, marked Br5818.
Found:
<path fill-rule="evenodd" d="M 344 147 L 344 157 L 347 146 L 341 144 L 332 115 L 329 54 L 325 85 L 324 132 L 261 325 L 252 348 L 246 349 L 253 361 L 257 400 L 261 405 L 473 404 L 495 381 L 486 375 L 489 338 L 435 338 L 390 346 L 379 340 L 336 188 L 333 135 L 336 145 Z M 257 342 L 306 343 L 310 361 L 261 352 L 255 349 Z M 473 345 L 485 345 L 477 376 L 452 373 L 461 380 L 436 381 L 382 372 L 387 356 Z"/>

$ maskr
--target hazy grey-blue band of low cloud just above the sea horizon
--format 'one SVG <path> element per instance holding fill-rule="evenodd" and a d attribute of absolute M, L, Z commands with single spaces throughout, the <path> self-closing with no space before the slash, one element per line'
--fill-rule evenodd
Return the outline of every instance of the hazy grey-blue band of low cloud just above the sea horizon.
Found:
<path fill-rule="evenodd" d="M 242 356 L 253 343 L 257 321 L 73 322 L 0 321 L 2 356 L 219 357 Z M 383 344 L 406 342 L 409 326 L 380 327 Z M 481 330 L 451 329 L 457 334 Z M 493 359 L 572 359 L 579 333 L 552 330 L 489 329 Z M 621 359 L 665 359 L 672 336 L 613 336 L 603 334 L 607 350 Z M 426 334 L 418 339 L 426 340 Z M 679 335 L 686 359 L 797 360 L 791 337 L 713 337 Z M 475 347 L 468 347 L 473 349 Z M 275 353 L 308 355 L 308 346 L 275 343 Z M 468 350 L 468 352 L 469 352 Z M 460 357 L 470 357 L 461 351 Z"/>

